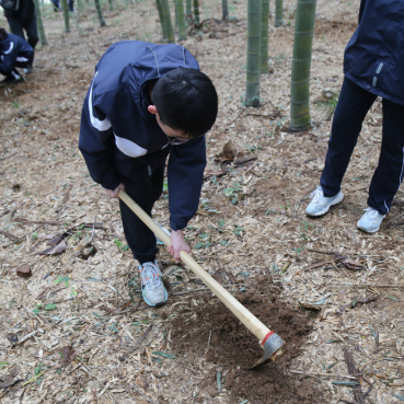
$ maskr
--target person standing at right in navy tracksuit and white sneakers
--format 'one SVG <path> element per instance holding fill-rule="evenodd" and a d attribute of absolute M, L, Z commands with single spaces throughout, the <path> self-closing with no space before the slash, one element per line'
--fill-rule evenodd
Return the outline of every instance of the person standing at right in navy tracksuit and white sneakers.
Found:
<path fill-rule="evenodd" d="M 308 216 L 325 215 L 344 195 L 340 183 L 366 114 L 382 97 L 379 165 L 358 229 L 373 233 L 389 212 L 404 174 L 404 1 L 361 0 L 359 23 L 344 58 L 344 83 L 335 109 L 325 166 Z"/>

